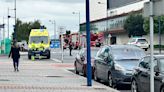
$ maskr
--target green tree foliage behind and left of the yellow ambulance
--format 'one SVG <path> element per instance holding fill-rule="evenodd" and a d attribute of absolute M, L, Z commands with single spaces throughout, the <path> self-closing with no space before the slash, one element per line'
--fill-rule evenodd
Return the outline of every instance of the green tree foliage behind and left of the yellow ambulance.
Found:
<path fill-rule="evenodd" d="M 21 20 L 17 19 L 17 24 L 16 24 L 17 40 L 18 41 L 22 41 L 22 40 L 28 41 L 31 29 L 39 29 L 40 27 L 41 27 L 41 23 L 39 20 L 36 20 L 34 22 L 22 22 Z"/>

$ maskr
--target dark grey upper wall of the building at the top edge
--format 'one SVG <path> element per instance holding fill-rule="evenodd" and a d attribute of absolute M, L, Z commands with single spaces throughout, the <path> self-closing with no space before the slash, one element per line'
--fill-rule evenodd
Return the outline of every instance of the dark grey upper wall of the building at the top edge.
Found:
<path fill-rule="evenodd" d="M 108 0 L 107 7 L 108 7 L 108 9 L 117 8 L 117 7 L 125 6 L 125 5 L 133 3 L 133 2 L 137 2 L 137 1 L 140 1 L 140 0 Z"/>

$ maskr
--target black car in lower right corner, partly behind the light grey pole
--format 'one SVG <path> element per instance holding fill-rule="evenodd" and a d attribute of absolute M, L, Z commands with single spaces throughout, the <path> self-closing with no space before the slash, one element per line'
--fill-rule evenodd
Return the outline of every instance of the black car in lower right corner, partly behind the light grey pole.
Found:
<path fill-rule="evenodd" d="M 150 92 L 150 56 L 140 60 L 135 68 L 131 90 L 132 92 Z M 164 92 L 164 55 L 154 56 L 154 92 Z"/>

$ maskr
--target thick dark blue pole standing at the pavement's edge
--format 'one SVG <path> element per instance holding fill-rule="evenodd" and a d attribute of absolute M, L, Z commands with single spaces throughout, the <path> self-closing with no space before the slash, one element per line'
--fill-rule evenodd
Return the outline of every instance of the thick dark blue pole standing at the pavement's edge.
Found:
<path fill-rule="evenodd" d="M 86 0 L 86 34 L 87 34 L 87 86 L 92 86 L 89 0 Z"/>

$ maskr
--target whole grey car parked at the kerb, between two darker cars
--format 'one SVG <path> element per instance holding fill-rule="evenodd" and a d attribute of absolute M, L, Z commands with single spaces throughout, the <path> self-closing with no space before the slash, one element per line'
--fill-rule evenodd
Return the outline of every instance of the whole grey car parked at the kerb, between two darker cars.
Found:
<path fill-rule="evenodd" d="M 132 45 L 111 45 L 101 48 L 94 62 L 94 79 L 104 80 L 110 87 L 131 84 L 133 67 L 145 56 L 143 49 Z"/>

